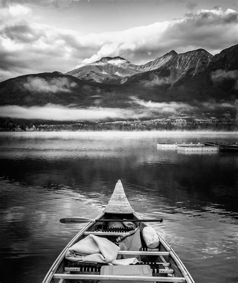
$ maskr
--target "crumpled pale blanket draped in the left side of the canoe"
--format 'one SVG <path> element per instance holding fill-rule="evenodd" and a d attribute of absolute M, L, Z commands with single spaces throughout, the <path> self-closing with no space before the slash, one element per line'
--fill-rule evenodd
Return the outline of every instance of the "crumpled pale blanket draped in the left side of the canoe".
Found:
<path fill-rule="evenodd" d="M 119 259 L 116 256 L 120 247 L 106 238 L 88 235 L 66 251 L 65 258 L 70 261 L 98 262 L 115 265 L 136 263 L 136 258 Z"/>

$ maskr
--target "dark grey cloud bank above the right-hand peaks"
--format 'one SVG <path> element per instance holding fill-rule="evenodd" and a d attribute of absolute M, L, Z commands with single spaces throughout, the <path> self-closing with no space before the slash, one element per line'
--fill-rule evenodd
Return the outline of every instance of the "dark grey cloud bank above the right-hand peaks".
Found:
<path fill-rule="evenodd" d="M 173 43 L 179 51 L 186 42 L 191 49 L 202 47 L 214 54 L 237 44 L 237 12 L 231 9 L 223 12 L 219 8 L 189 13 L 183 20 L 169 25 L 162 42 L 167 46 Z"/>

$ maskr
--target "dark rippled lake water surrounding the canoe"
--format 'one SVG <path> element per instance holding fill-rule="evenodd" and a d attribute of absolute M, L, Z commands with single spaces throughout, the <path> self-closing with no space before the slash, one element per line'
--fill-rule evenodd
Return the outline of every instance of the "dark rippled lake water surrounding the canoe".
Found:
<path fill-rule="evenodd" d="M 0 281 L 41 282 L 118 179 L 132 207 L 168 241 L 197 283 L 237 281 L 238 154 L 178 153 L 157 142 L 236 142 L 238 133 L 0 134 Z"/>

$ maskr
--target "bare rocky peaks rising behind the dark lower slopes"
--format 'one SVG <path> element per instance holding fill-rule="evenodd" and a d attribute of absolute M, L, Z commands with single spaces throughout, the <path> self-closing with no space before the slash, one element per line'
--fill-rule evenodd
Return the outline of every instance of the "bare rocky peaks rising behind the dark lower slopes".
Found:
<path fill-rule="evenodd" d="M 116 83 L 116 80 L 120 81 L 120 77 L 123 77 L 121 83 L 124 83 L 126 77 L 155 70 L 163 66 L 177 68 L 178 70 L 184 69 L 185 66 L 181 66 L 181 64 L 185 64 L 185 61 L 187 62 L 186 69 L 188 70 L 191 68 L 192 64 L 196 65 L 195 62 L 197 63 L 199 59 L 202 59 L 196 66 L 196 70 L 199 69 L 199 72 L 200 69 L 207 67 L 212 57 L 213 56 L 209 52 L 201 48 L 179 54 L 176 51 L 171 50 L 163 56 L 142 65 L 133 64 L 120 56 L 102 57 L 100 60 L 76 68 L 66 74 L 76 76 L 83 80 L 101 83 Z M 194 62 L 192 62 L 192 60 Z M 194 74 L 196 73 L 196 70 L 194 71 Z"/>

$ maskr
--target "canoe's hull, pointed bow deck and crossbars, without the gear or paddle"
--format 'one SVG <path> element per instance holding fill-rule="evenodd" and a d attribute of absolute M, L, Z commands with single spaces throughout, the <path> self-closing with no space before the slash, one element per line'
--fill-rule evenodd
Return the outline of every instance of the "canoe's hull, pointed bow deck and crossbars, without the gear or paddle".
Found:
<path fill-rule="evenodd" d="M 131 221 L 132 223 L 135 223 L 136 228 L 107 227 L 105 229 L 98 229 L 99 224 L 104 225 L 105 223 L 109 223 L 109 221 L 111 220 L 125 221 L 125 219 L 127 221 Z M 107 283 L 115 281 L 194 283 L 192 276 L 189 274 L 182 261 L 179 259 L 174 250 L 169 246 L 169 244 L 160 236 L 159 233 L 157 233 L 157 236 L 159 238 L 159 246 L 156 248 L 148 248 L 146 246 L 142 236 L 142 230 L 145 227 L 151 227 L 146 221 L 153 222 L 158 220 L 142 219 L 131 207 L 125 195 L 122 182 L 118 180 L 115 185 L 113 194 L 104 211 L 100 213 L 95 219 L 93 219 L 89 224 L 87 224 L 81 231 L 79 231 L 76 236 L 66 245 L 66 247 L 59 254 L 53 265 L 50 267 L 48 273 L 43 279 L 43 283 Z M 127 255 L 127 257 L 129 255 L 131 257 L 140 256 L 141 261 L 137 262 L 136 265 L 127 265 L 121 268 L 116 267 L 116 265 L 110 266 L 106 263 L 103 264 L 104 266 L 99 266 L 100 264 L 94 266 L 94 263 L 90 265 L 86 262 L 81 262 L 79 266 L 77 266 L 76 262 L 76 265 L 74 263 L 72 266 L 72 264 L 70 264 L 70 262 L 65 258 L 68 249 L 72 247 L 72 245 L 74 245 L 75 243 L 80 243 L 80 241 L 82 239 L 85 239 L 85 237 L 87 237 L 88 235 L 94 235 L 100 237 L 100 239 L 101 237 L 103 237 L 106 238 L 105 241 L 108 241 L 108 238 L 113 239 L 116 237 L 121 237 L 122 235 L 126 235 L 125 238 L 129 237 L 133 229 L 137 230 L 137 232 L 140 233 L 139 235 L 141 235 L 142 247 L 139 250 L 121 249 L 118 251 L 118 255 L 121 257 L 123 257 L 124 255 Z M 85 266 L 83 264 L 85 264 Z M 138 274 L 133 273 L 135 268 L 140 266 L 142 267 L 140 270 L 144 270 L 143 272 L 145 272 L 145 270 L 147 270 L 146 267 L 149 266 L 149 271 L 152 271 L 151 274 L 144 274 L 141 271 L 141 273 L 139 272 Z M 107 271 L 107 273 L 105 272 L 105 270 L 107 269 L 110 269 L 110 273 L 108 273 Z M 121 270 L 119 273 L 114 272 L 115 270 L 119 269 Z M 137 268 L 137 270 L 139 269 Z"/>

